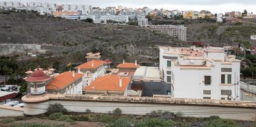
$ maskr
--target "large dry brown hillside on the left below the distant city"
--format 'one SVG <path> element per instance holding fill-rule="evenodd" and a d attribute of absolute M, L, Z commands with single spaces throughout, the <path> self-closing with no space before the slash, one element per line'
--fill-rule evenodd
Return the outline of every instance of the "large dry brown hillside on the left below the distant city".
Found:
<path fill-rule="evenodd" d="M 41 44 L 48 54 L 67 55 L 100 51 L 113 60 L 158 57 L 156 46 L 186 43 L 148 28 L 100 25 L 45 17 L 29 12 L 0 11 L 0 44 Z M 78 52 L 78 53 L 77 53 Z"/>

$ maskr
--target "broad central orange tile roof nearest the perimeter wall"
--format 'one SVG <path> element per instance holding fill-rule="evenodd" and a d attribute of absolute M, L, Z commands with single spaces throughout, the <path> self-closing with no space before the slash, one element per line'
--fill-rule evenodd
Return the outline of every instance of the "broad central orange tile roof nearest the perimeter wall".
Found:
<path fill-rule="evenodd" d="M 96 78 L 90 86 L 85 86 L 83 90 L 96 90 L 96 91 L 126 91 L 127 86 L 130 83 L 130 78 L 122 78 L 122 87 L 119 87 L 119 76 L 117 75 L 105 75 L 100 78 Z"/>

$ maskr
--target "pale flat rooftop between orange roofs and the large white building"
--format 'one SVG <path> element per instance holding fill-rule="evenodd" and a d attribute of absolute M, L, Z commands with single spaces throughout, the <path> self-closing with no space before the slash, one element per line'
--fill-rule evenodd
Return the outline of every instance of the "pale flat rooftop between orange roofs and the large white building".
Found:
<path fill-rule="evenodd" d="M 160 80 L 160 70 L 158 67 L 140 66 L 134 73 L 133 80 Z"/>

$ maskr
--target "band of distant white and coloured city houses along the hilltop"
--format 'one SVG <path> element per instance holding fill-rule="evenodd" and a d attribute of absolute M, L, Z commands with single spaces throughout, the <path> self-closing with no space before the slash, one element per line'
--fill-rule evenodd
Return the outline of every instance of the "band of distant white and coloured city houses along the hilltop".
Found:
<path fill-rule="evenodd" d="M 143 8 L 127 8 L 124 6 L 117 7 L 93 7 L 83 4 L 55 4 L 48 2 L 27 2 L 19 1 L 1 1 L 0 8 L 2 9 L 19 9 L 19 10 L 36 10 L 40 15 L 54 15 L 54 17 L 68 18 L 72 20 L 85 20 L 92 18 L 93 23 L 103 24 L 122 24 L 127 25 L 129 22 L 140 27 L 148 26 L 148 15 L 151 17 L 162 17 L 164 19 L 204 19 L 211 18 L 216 22 L 234 21 L 235 18 L 256 18 L 252 12 L 231 11 L 224 14 L 212 14 L 208 10 L 167 10 L 167 9 L 150 9 Z M 158 19 L 156 18 L 156 19 Z M 181 39 L 181 40 L 185 40 Z"/>

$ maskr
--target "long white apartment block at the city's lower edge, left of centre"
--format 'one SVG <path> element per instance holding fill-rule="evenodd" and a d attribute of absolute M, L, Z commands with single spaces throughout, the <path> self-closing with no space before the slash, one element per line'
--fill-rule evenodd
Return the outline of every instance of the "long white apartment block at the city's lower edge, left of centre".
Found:
<path fill-rule="evenodd" d="M 101 21 L 108 21 L 108 20 L 114 20 L 116 22 L 129 22 L 127 15 L 101 15 L 101 17 L 98 19 L 99 22 Z"/>

